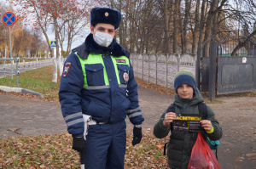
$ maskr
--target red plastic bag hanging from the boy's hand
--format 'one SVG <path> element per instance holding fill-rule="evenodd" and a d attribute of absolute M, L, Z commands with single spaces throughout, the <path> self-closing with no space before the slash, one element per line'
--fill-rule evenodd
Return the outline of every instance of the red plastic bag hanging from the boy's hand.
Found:
<path fill-rule="evenodd" d="M 220 169 L 218 160 L 201 136 L 201 132 L 195 141 L 192 149 L 188 169 Z"/>

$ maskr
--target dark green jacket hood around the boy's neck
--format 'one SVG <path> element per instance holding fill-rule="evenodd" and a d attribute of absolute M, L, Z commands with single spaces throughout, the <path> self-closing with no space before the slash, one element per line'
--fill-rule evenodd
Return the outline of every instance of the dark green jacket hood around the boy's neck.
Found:
<path fill-rule="evenodd" d="M 195 90 L 195 96 L 192 99 L 180 99 L 178 97 L 178 95 L 175 95 L 175 100 L 174 100 L 174 104 L 176 104 L 178 107 L 183 107 L 183 104 L 188 104 L 189 106 L 193 106 L 195 104 L 198 104 L 200 102 L 203 102 L 204 99 L 201 96 L 200 91 L 198 90 L 198 88 L 196 88 Z"/>

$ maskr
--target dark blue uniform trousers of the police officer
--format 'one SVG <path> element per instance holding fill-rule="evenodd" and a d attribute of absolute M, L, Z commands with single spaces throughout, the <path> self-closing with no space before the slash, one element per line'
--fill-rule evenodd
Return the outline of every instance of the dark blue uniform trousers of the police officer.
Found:
<path fill-rule="evenodd" d="M 123 169 L 126 123 L 90 125 L 86 136 L 85 169 Z"/>

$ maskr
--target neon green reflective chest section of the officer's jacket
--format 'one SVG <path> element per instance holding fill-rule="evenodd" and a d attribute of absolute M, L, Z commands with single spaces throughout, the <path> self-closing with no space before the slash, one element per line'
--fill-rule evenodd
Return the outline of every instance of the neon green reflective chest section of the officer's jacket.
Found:
<path fill-rule="evenodd" d="M 126 56 L 113 57 L 112 55 L 107 56 L 90 53 L 87 59 L 82 59 L 77 52 L 75 52 L 75 54 L 78 56 L 82 66 L 85 89 L 109 88 L 109 82 L 113 79 L 109 79 L 111 77 L 108 75 L 107 71 L 111 71 L 110 69 L 113 68 L 119 87 L 126 87 L 124 85 L 129 80 L 130 70 L 130 62 Z M 113 67 L 111 63 L 109 63 L 109 59 L 105 61 L 105 58 L 109 56 L 111 57 Z M 111 73 L 112 72 L 110 72 L 110 74 Z"/>

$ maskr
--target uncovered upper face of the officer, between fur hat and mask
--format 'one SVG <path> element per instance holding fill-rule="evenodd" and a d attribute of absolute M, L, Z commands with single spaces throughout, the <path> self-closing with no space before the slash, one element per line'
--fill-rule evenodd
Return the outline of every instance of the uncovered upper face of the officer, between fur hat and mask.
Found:
<path fill-rule="evenodd" d="M 90 32 L 95 35 L 96 31 L 101 31 L 103 33 L 108 33 L 109 35 L 114 36 L 116 34 L 116 30 L 114 30 L 114 26 L 111 24 L 102 24 L 99 23 L 96 26 L 90 25 Z"/>

